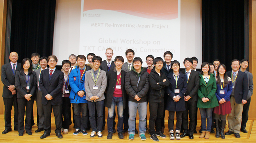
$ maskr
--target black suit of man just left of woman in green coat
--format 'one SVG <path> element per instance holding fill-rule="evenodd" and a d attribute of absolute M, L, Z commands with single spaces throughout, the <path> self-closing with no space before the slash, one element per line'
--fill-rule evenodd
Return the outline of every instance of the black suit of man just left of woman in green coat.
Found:
<path fill-rule="evenodd" d="M 186 70 L 181 71 L 186 76 Z M 196 107 L 198 101 L 198 88 L 199 88 L 199 73 L 191 70 L 187 82 L 187 92 L 185 96 L 190 96 L 190 100 L 185 101 L 186 110 L 182 113 L 183 129 L 187 134 L 194 134 L 196 113 L 198 108 Z M 188 114 L 189 114 L 189 130 L 188 130 Z"/>

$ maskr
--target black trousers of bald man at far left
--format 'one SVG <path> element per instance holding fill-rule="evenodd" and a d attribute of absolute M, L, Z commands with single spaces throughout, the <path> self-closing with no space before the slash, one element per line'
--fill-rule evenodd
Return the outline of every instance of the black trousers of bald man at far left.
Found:
<path fill-rule="evenodd" d="M 12 129 L 12 106 L 14 107 L 14 129 L 18 130 L 18 103 L 17 94 L 12 98 L 4 98 L 4 122 L 5 129 Z"/>

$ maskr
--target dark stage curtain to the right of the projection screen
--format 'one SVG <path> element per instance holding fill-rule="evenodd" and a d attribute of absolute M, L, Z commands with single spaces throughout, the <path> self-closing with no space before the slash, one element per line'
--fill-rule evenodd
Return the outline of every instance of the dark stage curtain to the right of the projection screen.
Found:
<path fill-rule="evenodd" d="M 203 61 L 244 59 L 244 0 L 202 0 Z"/>

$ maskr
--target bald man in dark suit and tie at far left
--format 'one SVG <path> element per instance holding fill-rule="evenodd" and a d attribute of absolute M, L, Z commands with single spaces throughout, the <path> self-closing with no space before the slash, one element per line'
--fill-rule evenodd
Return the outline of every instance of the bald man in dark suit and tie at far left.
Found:
<path fill-rule="evenodd" d="M 1 80 L 4 84 L 3 96 L 4 97 L 4 121 L 5 130 L 2 134 L 6 134 L 12 130 L 12 106 L 14 107 L 14 130 L 18 130 L 18 103 L 17 91 L 15 89 L 15 73 L 21 69 L 21 64 L 17 63 L 19 56 L 17 52 L 11 52 L 10 63 L 2 66 Z"/>

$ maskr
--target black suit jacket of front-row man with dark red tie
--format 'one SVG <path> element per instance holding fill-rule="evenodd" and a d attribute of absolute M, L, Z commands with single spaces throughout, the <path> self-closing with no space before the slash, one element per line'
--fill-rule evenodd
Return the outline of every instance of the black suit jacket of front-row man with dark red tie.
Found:
<path fill-rule="evenodd" d="M 51 81 L 49 81 L 49 69 L 42 70 L 40 74 L 39 87 L 42 91 L 42 104 L 46 105 L 48 100 L 45 98 L 50 94 L 53 99 L 49 100 L 51 105 L 62 105 L 62 87 L 63 87 L 64 74 L 60 70 L 55 69 L 52 74 Z"/>

